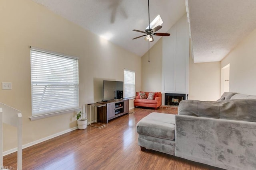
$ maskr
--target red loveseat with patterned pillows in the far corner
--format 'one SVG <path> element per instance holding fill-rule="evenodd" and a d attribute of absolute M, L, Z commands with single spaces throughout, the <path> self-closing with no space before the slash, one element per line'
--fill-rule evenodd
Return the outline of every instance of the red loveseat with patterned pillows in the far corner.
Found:
<path fill-rule="evenodd" d="M 145 94 L 148 97 L 149 92 L 145 92 Z M 162 105 L 162 93 L 161 92 L 155 92 L 153 100 L 141 99 L 139 92 L 136 92 L 136 98 L 134 100 L 134 107 L 136 107 L 136 106 L 154 107 L 156 110 L 156 108 L 161 105 Z"/>

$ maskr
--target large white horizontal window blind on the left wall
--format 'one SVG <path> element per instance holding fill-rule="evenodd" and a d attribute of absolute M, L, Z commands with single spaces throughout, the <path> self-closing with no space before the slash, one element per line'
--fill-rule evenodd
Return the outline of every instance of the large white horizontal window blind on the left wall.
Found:
<path fill-rule="evenodd" d="M 31 47 L 32 116 L 77 108 L 78 59 Z"/>

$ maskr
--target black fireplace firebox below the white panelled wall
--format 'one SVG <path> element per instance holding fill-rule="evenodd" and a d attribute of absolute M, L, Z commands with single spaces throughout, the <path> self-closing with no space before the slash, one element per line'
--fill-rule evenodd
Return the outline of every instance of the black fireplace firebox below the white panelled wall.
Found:
<path fill-rule="evenodd" d="M 186 94 L 176 94 L 176 93 L 164 94 L 164 105 L 178 106 L 180 101 L 182 100 L 186 100 Z"/>

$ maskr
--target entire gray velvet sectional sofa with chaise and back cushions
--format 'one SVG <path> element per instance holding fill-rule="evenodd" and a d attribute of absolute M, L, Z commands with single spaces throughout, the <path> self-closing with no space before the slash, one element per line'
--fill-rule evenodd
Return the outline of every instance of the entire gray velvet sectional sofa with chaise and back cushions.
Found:
<path fill-rule="evenodd" d="M 150 113 L 137 124 L 141 150 L 153 149 L 224 169 L 256 169 L 256 96 L 182 100 L 178 115 Z M 175 134 L 175 135 L 174 135 Z"/>

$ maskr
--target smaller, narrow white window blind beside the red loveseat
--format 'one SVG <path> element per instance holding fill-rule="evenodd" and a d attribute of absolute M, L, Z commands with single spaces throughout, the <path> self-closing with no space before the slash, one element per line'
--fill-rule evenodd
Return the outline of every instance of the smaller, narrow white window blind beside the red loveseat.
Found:
<path fill-rule="evenodd" d="M 124 98 L 135 96 L 135 72 L 124 70 Z"/>

